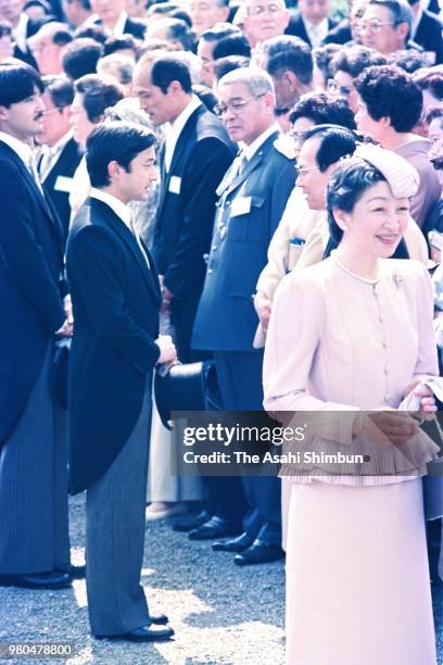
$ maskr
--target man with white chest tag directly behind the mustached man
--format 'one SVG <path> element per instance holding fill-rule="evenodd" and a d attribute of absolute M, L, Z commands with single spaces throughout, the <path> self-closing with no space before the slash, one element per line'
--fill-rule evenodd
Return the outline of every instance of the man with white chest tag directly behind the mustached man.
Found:
<path fill-rule="evenodd" d="M 74 173 L 83 156 L 83 150 L 74 139 L 69 124 L 74 84 L 65 76 L 46 76 L 43 83 L 45 116 L 43 131 L 38 139 L 42 143 L 38 172 L 67 238 L 71 218 L 69 193 Z"/>

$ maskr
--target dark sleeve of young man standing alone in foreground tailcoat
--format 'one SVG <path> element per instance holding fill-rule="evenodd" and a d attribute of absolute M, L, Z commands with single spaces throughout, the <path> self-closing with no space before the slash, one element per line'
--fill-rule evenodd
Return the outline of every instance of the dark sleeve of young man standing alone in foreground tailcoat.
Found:
<path fill-rule="evenodd" d="M 119 248 L 105 229 L 87 226 L 77 233 L 68 246 L 67 275 L 72 292 L 103 344 L 138 371 L 149 372 L 159 360 L 160 348 L 127 310 Z"/>

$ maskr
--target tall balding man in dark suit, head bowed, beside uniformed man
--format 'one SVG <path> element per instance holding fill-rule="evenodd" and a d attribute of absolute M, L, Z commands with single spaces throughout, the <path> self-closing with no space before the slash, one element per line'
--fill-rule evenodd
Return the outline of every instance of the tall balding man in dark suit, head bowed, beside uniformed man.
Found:
<path fill-rule="evenodd" d="M 153 125 L 170 123 L 161 150 L 161 193 L 153 252 L 163 283 L 163 306 L 176 329 L 179 360 L 199 360 L 191 332 L 202 292 L 213 230 L 215 190 L 236 149 L 221 122 L 192 95 L 188 66 L 174 57 L 142 58 L 135 93 Z"/>

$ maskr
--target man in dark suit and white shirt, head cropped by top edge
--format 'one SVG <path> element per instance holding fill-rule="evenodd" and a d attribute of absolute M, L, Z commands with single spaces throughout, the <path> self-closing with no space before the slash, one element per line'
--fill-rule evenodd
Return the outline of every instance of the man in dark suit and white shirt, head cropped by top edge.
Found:
<path fill-rule="evenodd" d="M 338 23 L 329 17 L 330 11 L 330 0 L 299 0 L 299 11 L 291 17 L 287 35 L 300 37 L 312 49 L 320 46 Z"/>

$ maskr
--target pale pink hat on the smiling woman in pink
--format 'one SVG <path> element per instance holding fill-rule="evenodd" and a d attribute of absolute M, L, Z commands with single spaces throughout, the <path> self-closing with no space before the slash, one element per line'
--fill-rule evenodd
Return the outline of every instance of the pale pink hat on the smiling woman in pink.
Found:
<path fill-rule="evenodd" d="M 359 156 L 378 168 L 388 180 L 396 199 L 409 199 L 417 193 L 420 176 L 414 166 L 396 152 L 374 143 L 360 143 L 354 156 Z"/>

